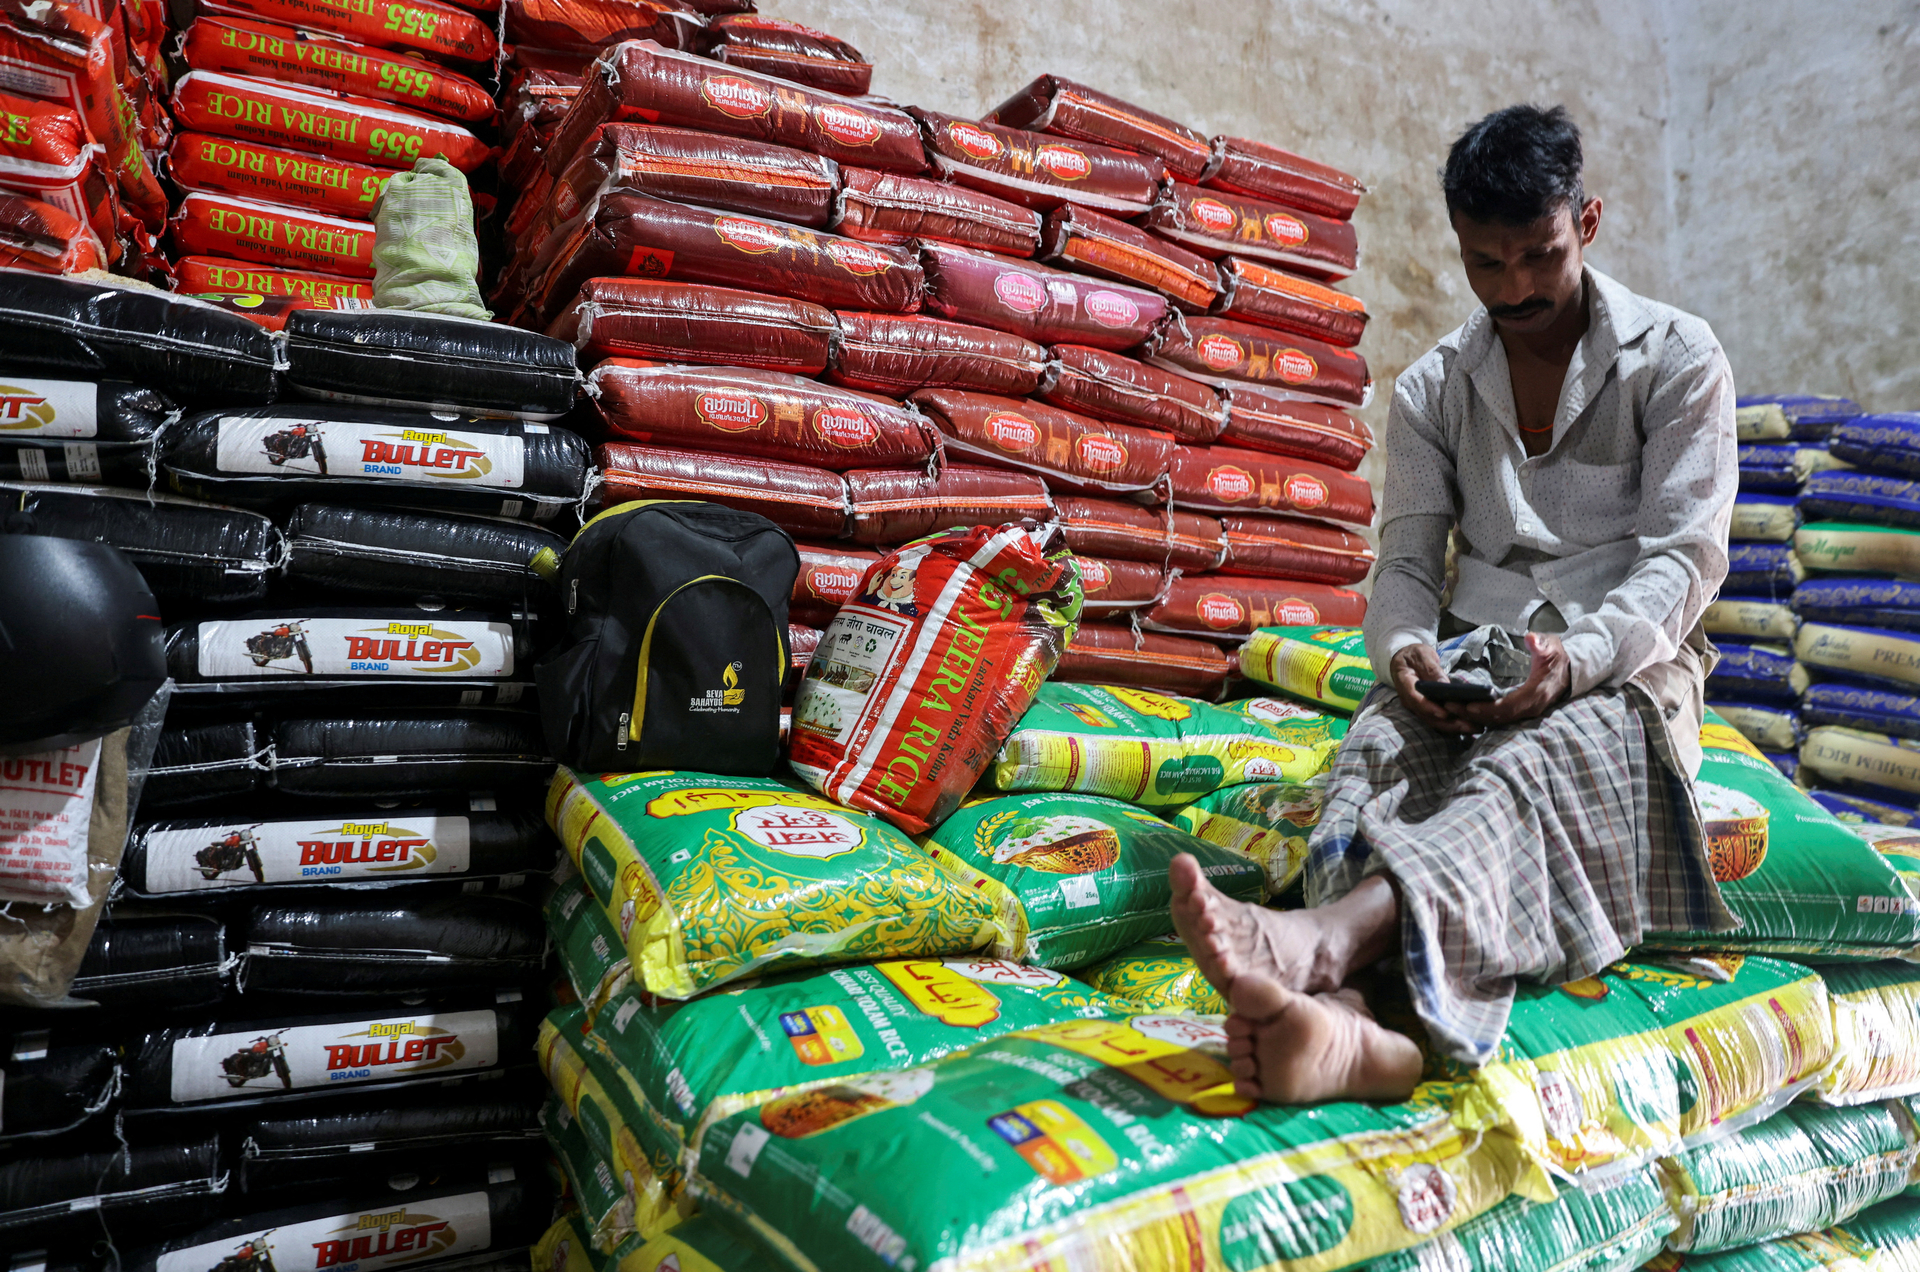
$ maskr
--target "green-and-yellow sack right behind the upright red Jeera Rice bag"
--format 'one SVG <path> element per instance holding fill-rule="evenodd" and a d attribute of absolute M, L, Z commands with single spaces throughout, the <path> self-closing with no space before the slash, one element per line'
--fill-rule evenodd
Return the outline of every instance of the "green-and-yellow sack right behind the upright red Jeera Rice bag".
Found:
<path fill-rule="evenodd" d="M 1169 807 L 1236 782 L 1304 782 L 1332 765 L 1344 736 L 1344 719 L 1275 697 L 1215 707 L 1112 684 L 1048 682 L 995 755 L 993 784 Z"/>

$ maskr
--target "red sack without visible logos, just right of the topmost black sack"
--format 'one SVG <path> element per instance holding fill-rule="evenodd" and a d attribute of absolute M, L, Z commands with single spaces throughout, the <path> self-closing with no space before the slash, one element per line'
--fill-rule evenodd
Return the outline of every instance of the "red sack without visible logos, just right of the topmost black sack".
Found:
<path fill-rule="evenodd" d="M 549 334 L 572 340 L 582 361 L 660 357 L 820 375 L 833 311 L 732 286 L 588 279 Z"/>

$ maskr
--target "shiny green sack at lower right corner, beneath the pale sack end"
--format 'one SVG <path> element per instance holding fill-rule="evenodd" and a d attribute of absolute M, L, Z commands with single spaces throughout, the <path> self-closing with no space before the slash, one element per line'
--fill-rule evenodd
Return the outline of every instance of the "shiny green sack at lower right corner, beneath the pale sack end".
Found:
<path fill-rule="evenodd" d="M 1907 1187 L 1920 1147 L 1907 1113 L 1788 1105 L 1759 1126 L 1661 1161 L 1676 1251 L 1713 1253 L 1816 1232 Z"/>

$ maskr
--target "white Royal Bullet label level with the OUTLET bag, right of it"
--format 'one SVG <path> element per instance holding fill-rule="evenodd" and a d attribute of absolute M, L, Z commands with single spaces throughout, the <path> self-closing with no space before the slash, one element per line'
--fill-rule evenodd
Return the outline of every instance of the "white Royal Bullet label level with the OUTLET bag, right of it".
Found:
<path fill-rule="evenodd" d="M 413 880 L 465 874 L 470 861 L 468 820 L 432 813 L 150 830 L 146 892 Z"/>

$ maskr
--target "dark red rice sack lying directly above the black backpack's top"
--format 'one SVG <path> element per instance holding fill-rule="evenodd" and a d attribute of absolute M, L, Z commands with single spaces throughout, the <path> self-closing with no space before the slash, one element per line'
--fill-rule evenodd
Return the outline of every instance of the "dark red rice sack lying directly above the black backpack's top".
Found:
<path fill-rule="evenodd" d="M 601 507 L 630 500 L 707 500 L 760 513 L 803 538 L 837 538 L 847 528 L 847 482 L 826 469 L 628 442 L 597 446 L 593 459 L 605 480 Z"/>

